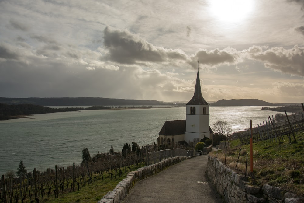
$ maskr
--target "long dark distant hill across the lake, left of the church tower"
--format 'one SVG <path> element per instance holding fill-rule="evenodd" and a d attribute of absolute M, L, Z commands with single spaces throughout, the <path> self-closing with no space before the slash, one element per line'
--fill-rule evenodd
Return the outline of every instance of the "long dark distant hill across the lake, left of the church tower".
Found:
<path fill-rule="evenodd" d="M 156 100 L 109 99 L 102 97 L 57 97 L 57 98 L 5 98 L 0 97 L 0 103 L 6 104 L 36 104 L 42 106 L 158 106 L 173 105 Z M 177 104 L 174 104 L 177 105 Z"/>

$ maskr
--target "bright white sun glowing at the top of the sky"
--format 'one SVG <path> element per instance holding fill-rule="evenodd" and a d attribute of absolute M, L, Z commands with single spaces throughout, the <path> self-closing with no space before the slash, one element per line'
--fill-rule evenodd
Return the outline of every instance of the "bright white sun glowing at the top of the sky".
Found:
<path fill-rule="evenodd" d="M 210 0 L 210 12 L 220 21 L 238 23 L 250 15 L 253 0 Z"/>

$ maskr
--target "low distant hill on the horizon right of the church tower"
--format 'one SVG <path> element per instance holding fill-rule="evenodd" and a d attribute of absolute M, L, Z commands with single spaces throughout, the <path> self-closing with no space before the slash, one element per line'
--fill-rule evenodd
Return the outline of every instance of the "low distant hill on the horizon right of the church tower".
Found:
<path fill-rule="evenodd" d="M 276 106 L 276 105 L 278 104 L 273 104 L 258 99 L 218 100 L 217 102 L 210 103 L 210 106 Z"/>

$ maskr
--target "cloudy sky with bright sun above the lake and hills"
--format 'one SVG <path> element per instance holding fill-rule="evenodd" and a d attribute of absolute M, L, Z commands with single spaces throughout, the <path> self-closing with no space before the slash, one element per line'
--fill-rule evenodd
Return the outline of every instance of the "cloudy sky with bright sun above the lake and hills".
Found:
<path fill-rule="evenodd" d="M 0 97 L 304 102 L 304 0 L 0 0 Z"/>

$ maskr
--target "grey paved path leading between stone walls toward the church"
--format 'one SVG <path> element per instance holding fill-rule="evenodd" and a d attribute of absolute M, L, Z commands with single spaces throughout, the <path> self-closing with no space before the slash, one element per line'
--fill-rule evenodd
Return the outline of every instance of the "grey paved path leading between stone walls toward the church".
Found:
<path fill-rule="evenodd" d="M 208 183 L 205 173 L 207 158 L 208 155 L 202 155 L 186 159 L 135 183 L 123 203 L 223 203 L 215 187 Z"/>

